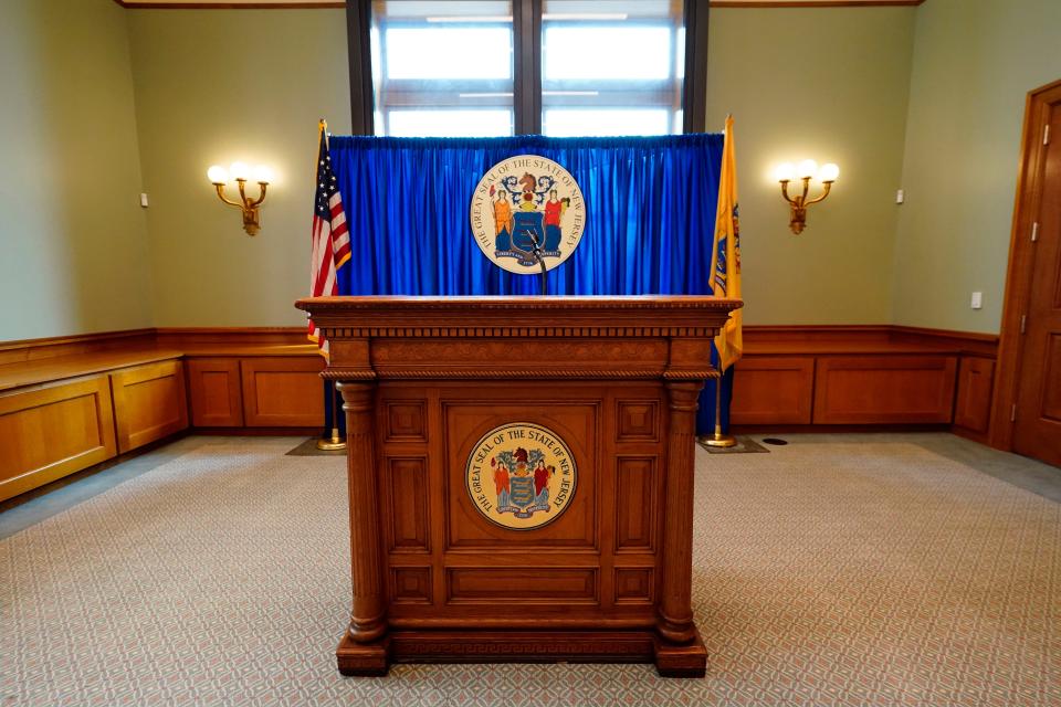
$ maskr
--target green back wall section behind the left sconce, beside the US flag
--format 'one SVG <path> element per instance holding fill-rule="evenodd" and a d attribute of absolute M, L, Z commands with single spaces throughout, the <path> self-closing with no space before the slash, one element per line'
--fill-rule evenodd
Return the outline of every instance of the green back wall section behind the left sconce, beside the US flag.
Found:
<path fill-rule="evenodd" d="M 127 12 L 158 326 L 303 324 L 317 118 L 350 129 L 344 11 Z M 237 159 L 276 172 L 254 238 L 206 177 Z"/>

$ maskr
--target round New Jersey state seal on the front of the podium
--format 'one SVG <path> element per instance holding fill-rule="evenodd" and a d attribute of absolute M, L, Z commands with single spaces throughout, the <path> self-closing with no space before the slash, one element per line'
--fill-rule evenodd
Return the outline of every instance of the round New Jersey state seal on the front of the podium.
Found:
<path fill-rule="evenodd" d="M 487 520 L 511 530 L 533 530 L 567 510 L 578 469 L 556 432 L 513 422 L 480 437 L 469 454 L 464 482 L 472 504 Z"/>

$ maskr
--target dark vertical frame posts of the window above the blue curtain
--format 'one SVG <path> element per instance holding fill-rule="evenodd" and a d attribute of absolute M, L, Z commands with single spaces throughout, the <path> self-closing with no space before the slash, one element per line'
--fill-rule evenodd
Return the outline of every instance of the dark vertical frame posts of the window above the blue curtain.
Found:
<path fill-rule="evenodd" d="M 512 0 L 514 135 L 542 133 L 542 4 L 543 0 Z M 372 0 L 346 0 L 350 128 L 354 135 L 372 135 L 375 131 L 371 6 Z M 700 133 L 707 123 L 710 0 L 684 0 L 683 10 L 685 76 L 682 81 L 682 131 Z"/>

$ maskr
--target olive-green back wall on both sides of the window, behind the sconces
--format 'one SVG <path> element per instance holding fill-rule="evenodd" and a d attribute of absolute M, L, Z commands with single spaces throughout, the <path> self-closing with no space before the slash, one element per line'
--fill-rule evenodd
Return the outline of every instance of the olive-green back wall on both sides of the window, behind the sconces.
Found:
<path fill-rule="evenodd" d="M 156 319 L 300 321 L 290 305 L 306 289 L 315 120 L 349 125 L 343 12 L 129 15 Z M 710 126 L 727 110 L 737 119 L 748 323 L 890 319 L 913 21 L 913 8 L 712 12 Z M 801 66 L 805 46 L 815 61 Z M 805 155 L 844 171 L 797 238 L 769 173 Z M 202 177 L 241 156 L 283 176 L 255 239 Z"/>

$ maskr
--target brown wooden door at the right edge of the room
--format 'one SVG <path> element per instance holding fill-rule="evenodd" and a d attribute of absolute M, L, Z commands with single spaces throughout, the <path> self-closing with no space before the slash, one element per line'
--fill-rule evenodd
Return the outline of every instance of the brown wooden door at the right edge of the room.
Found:
<path fill-rule="evenodd" d="M 1013 451 L 1061 466 L 1061 86 L 1039 107 L 1042 143 L 1026 192 L 1030 282 L 1021 313 Z"/>

